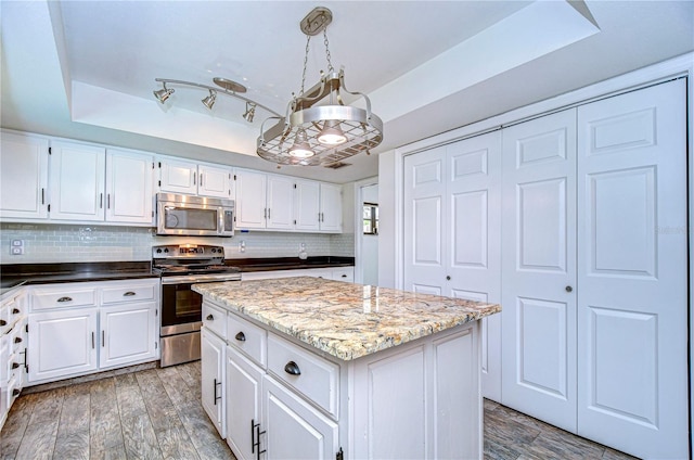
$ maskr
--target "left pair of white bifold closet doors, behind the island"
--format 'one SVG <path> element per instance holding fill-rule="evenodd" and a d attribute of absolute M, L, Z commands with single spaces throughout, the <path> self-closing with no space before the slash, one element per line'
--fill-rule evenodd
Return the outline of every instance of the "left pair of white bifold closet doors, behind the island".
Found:
<path fill-rule="evenodd" d="M 404 158 L 404 289 L 501 302 L 501 131 Z M 501 400 L 501 316 L 481 320 L 483 396 Z"/>

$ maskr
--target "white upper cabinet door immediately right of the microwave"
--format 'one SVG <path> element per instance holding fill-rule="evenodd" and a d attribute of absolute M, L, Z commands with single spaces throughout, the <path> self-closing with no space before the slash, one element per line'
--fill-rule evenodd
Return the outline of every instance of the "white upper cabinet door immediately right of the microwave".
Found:
<path fill-rule="evenodd" d="M 264 229 L 268 217 L 266 206 L 268 176 L 236 170 L 236 228 Z"/>

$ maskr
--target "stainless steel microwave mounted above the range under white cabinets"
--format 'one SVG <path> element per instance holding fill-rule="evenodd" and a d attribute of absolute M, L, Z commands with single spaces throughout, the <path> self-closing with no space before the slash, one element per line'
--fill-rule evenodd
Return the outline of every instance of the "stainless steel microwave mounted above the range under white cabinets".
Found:
<path fill-rule="evenodd" d="M 234 201 L 157 193 L 156 234 L 233 237 Z"/>

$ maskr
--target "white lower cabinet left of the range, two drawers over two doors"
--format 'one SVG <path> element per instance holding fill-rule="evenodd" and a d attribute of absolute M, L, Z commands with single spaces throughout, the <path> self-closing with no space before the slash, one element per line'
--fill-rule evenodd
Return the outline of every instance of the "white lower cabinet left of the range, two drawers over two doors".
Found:
<path fill-rule="evenodd" d="M 28 384 L 158 358 L 158 279 L 30 288 Z"/>

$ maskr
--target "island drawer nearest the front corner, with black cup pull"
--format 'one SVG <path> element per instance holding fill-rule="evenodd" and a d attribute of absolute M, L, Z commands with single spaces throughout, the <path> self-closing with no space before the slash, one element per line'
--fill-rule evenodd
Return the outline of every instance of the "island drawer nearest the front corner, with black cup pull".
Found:
<path fill-rule="evenodd" d="M 268 334 L 268 371 L 337 418 L 339 366 Z"/>

